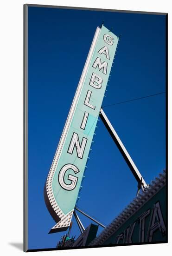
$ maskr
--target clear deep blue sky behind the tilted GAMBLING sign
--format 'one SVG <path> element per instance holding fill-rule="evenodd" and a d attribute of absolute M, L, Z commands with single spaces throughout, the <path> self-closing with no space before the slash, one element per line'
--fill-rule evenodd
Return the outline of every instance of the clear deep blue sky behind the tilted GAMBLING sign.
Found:
<path fill-rule="evenodd" d="M 121 34 L 103 106 L 164 92 L 165 16 L 29 7 L 29 249 L 56 247 L 66 232 L 44 202 L 44 184 L 96 27 Z M 166 167 L 165 94 L 105 107 L 147 183 Z M 137 182 L 100 120 L 78 207 L 109 224 L 134 198 Z M 90 221 L 81 216 L 83 225 Z M 99 232 L 102 228 L 99 228 Z M 71 235 L 79 235 L 74 221 Z"/>

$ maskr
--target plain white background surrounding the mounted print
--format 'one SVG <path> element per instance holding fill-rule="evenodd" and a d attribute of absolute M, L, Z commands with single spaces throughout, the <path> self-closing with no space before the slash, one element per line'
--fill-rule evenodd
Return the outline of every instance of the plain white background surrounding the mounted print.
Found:
<path fill-rule="evenodd" d="M 168 45 L 172 45 L 172 7 L 169 0 L 120 0 L 120 1 L 100 1 L 100 0 L 8 0 L 1 2 L 0 13 L 0 170 L 1 170 L 1 216 L 0 216 L 0 251 L 3 256 L 13 255 L 19 256 L 23 252 L 23 5 L 42 4 L 56 6 L 73 6 L 73 7 L 89 7 L 103 9 L 119 9 L 132 11 L 148 11 L 168 13 Z M 172 130 L 172 75 L 170 72 L 172 49 L 168 50 L 168 130 Z M 168 135 L 169 156 L 172 155 L 172 133 Z M 169 157 L 168 162 L 168 183 L 170 184 L 172 175 L 172 158 Z M 13 163 L 13 169 L 9 164 Z M 9 183 L 6 188 L 6 177 Z M 10 188 L 10 189 L 9 189 Z M 170 203 L 170 195 L 172 195 L 172 186 L 168 186 L 168 216 L 171 216 L 172 203 Z M 6 200 L 13 194 L 13 200 Z M 13 218 L 12 218 L 13 216 Z M 108 247 L 82 249 L 82 255 L 98 254 L 98 255 L 132 255 L 145 256 L 146 254 L 162 254 L 170 255 L 172 251 L 172 220 L 168 218 L 168 244 L 152 244 L 152 245 L 134 245 L 127 247 Z M 10 227 L 9 227 L 10 226 Z M 57 251 L 32 252 L 33 254 L 57 255 Z M 81 250 L 63 250 L 58 251 L 58 255 L 80 256 Z"/>

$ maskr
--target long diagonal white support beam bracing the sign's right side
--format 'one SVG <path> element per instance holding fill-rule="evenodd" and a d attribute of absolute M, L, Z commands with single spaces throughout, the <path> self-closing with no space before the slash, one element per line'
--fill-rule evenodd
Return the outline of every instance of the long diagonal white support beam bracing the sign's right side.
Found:
<path fill-rule="evenodd" d="M 130 170 L 132 171 L 135 179 L 138 182 L 138 188 L 141 188 L 142 190 L 147 189 L 147 183 L 145 182 L 145 180 L 143 179 L 142 175 L 140 174 L 138 168 L 135 166 L 133 160 L 131 159 L 130 155 L 127 152 L 127 149 L 124 147 L 124 145 L 122 144 L 122 141 L 120 140 L 120 138 L 118 137 L 117 133 L 115 132 L 115 129 L 113 128 L 113 126 L 111 125 L 110 121 L 108 120 L 108 117 L 105 115 L 104 111 L 100 110 L 100 118 L 102 119 L 105 127 L 107 128 L 109 134 L 111 135 L 112 139 L 114 140 L 116 146 L 118 147 L 118 149 L 120 150 L 123 158 L 125 159 L 125 161 L 127 162 L 128 167 L 130 168 Z"/>

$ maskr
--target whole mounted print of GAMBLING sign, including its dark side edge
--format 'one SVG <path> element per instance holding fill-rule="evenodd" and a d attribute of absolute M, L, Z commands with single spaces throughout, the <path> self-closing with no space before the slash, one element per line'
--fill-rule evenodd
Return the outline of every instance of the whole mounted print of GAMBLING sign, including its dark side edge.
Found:
<path fill-rule="evenodd" d="M 167 13 L 24 5 L 24 251 L 167 243 Z"/>

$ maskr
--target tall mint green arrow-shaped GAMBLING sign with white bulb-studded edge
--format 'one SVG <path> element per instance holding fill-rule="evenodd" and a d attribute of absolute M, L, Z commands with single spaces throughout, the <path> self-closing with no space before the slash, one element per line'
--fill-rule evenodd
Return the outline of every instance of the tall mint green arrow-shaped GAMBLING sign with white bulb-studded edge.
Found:
<path fill-rule="evenodd" d="M 57 223 L 50 233 L 70 226 L 117 44 L 108 28 L 97 27 L 45 184 L 45 203 Z"/>

